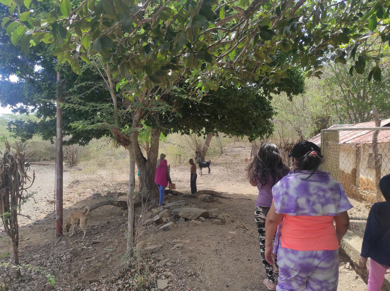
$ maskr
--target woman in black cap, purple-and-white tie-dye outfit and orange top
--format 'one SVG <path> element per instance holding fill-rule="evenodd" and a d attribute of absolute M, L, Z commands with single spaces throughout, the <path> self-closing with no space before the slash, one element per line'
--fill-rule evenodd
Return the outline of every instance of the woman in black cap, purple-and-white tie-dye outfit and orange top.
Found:
<path fill-rule="evenodd" d="M 272 252 L 278 255 L 276 290 L 336 291 L 339 243 L 352 205 L 339 182 L 318 170 L 322 156 L 316 144 L 300 142 L 289 156 L 295 170 L 273 186 L 266 219 L 266 259 L 272 264 Z"/>

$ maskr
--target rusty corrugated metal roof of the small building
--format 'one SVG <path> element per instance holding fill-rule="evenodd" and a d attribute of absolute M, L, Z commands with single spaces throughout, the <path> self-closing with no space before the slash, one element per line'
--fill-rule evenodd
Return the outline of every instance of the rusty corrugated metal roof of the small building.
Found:
<path fill-rule="evenodd" d="M 381 121 L 381 127 L 389 126 L 390 118 Z M 356 124 L 333 124 L 328 129 L 346 128 L 346 127 L 375 127 L 374 121 L 362 122 Z M 371 144 L 373 130 L 340 130 L 340 144 Z M 321 133 L 310 138 L 310 142 L 321 145 Z M 381 130 L 378 134 L 378 142 L 390 142 L 390 130 Z"/>

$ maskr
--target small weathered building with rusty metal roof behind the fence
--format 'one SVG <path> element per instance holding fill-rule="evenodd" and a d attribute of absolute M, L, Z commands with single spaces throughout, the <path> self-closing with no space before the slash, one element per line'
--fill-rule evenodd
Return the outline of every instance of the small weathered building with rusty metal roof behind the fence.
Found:
<path fill-rule="evenodd" d="M 381 121 L 381 127 L 390 126 L 390 118 Z M 334 124 L 328 129 L 375 127 L 375 122 Z M 375 202 L 375 161 L 372 149 L 373 130 L 339 131 L 339 182 L 347 195 L 366 202 Z M 321 147 L 321 134 L 310 139 Z M 378 133 L 378 161 L 381 177 L 390 174 L 390 130 Z"/>

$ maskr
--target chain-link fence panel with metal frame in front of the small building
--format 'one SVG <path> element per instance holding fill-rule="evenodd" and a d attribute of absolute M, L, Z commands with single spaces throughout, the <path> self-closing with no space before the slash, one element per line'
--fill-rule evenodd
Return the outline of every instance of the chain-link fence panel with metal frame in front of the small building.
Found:
<path fill-rule="evenodd" d="M 383 201 L 379 180 L 390 173 L 390 130 L 338 128 L 321 132 L 323 170 L 364 203 Z"/>

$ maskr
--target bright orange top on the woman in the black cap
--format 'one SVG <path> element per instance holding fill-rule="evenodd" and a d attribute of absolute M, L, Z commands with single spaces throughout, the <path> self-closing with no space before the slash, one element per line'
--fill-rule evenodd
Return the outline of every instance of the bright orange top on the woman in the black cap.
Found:
<path fill-rule="evenodd" d="M 284 214 L 282 247 L 297 251 L 333 251 L 339 248 L 333 216 Z"/>

